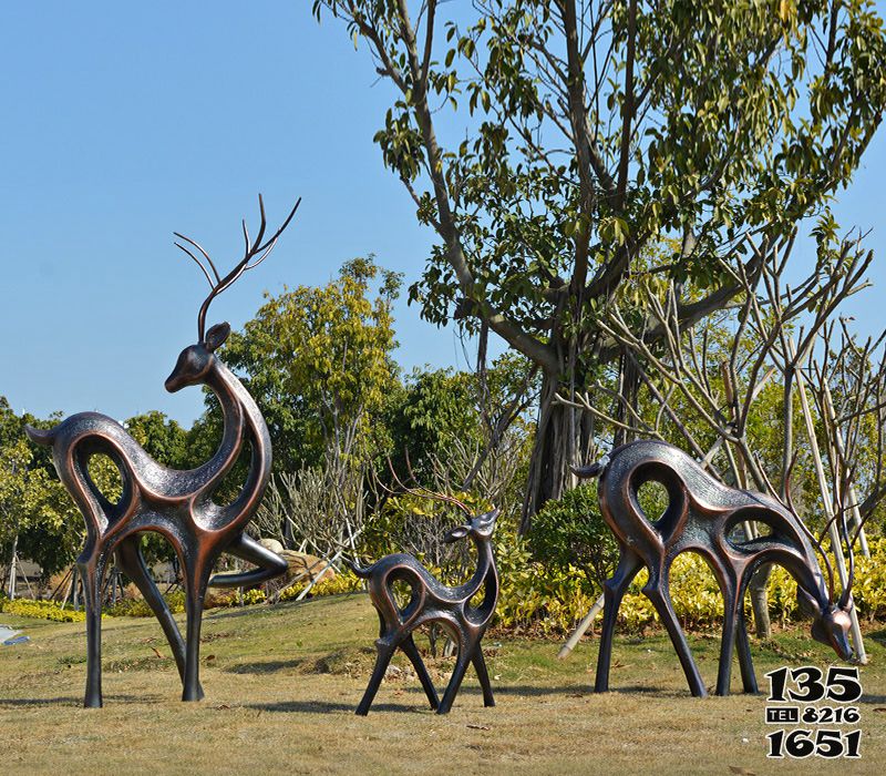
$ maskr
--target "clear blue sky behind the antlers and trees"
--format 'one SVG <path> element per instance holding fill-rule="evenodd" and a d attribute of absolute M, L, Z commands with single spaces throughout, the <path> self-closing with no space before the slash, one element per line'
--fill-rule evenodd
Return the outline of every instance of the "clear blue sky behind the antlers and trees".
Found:
<path fill-rule="evenodd" d="M 259 191 L 271 223 L 303 203 L 209 324 L 239 327 L 265 289 L 326 283 L 367 253 L 418 277 L 433 235 L 372 143 L 390 91 L 310 4 L 0 3 L 0 395 L 17 411 L 161 409 L 189 423 L 200 392 L 171 396 L 163 380 L 206 288 L 172 232 L 227 266 Z M 884 325 L 884 173 L 880 131 L 837 208 L 844 226 L 874 228 L 876 288 L 852 310 L 864 331 Z M 451 329 L 405 299 L 395 313 L 404 367 L 464 366 Z"/>

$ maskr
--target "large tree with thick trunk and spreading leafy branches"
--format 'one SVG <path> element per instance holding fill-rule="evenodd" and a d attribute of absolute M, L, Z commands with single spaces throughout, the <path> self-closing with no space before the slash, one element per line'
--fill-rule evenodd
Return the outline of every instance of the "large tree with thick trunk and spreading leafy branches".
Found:
<path fill-rule="evenodd" d="M 677 279 L 683 327 L 730 304 L 722 259 L 753 277 L 804 218 L 827 223 L 886 100 L 863 0 L 313 8 L 344 19 L 394 89 L 375 140 L 440 241 L 412 297 L 543 372 L 527 513 L 593 443 L 590 417 L 555 397 L 622 358 L 597 326 L 616 290 Z M 664 335 L 640 305 L 631 324 Z M 622 391 L 636 385 L 624 369 Z"/>

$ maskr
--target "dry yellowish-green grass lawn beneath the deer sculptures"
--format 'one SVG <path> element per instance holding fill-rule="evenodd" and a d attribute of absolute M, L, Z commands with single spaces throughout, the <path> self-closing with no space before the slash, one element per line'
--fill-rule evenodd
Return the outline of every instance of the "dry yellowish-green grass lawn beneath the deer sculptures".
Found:
<path fill-rule="evenodd" d="M 425 705 L 398 658 L 369 716 L 357 717 L 378 620 L 363 594 L 275 607 L 216 610 L 204 622 L 206 698 L 183 704 L 153 620 L 105 619 L 104 708 L 81 708 L 82 623 L 0 614 L 31 642 L 0 647 L 0 764 L 4 773 L 882 773 L 886 763 L 886 630 L 868 630 L 870 663 L 861 760 L 767 760 L 765 695 L 689 696 L 663 633 L 616 640 L 614 692 L 590 692 L 596 640 L 573 657 L 559 644 L 490 634 L 497 706 L 484 708 L 468 671 L 449 716 Z M 719 637 L 690 637 L 709 685 Z M 156 651 L 156 652 L 155 652 Z M 753 644 L 758 680 L 834 658 L 807 631 Z M 159 653 L 159 656 L 156 654 Z M 430 661 L 445 685 L 449 663 Z M 738 665 L 733 691 L 740 690 Z M 851 729 L 852 726 L 845 726 Z"/>

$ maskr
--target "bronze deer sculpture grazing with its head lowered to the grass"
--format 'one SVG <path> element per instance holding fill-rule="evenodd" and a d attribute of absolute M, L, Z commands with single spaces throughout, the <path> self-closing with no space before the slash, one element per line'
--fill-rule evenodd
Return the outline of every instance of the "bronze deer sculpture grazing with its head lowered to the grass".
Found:
<path fill-rule="evenodd" d="M 687 550 L 708 561 L 723 594 L 718 695 L 729 694 L 735 647 L 744 691 L 758 692 L 742 601 L 751 576 L 763 563 L 777 563 L 796 580 L 797 599 L 814 616 L 813 639 L 831 646 L 844 660 L 852 656 L 848 642 L 852 580 L 834 604 L 833 582 L 828 580 L 825 584 L 811 534 L 793 509 L 789 511 L 762 493 L 728 488 L 687 453 L 655 440 L 624 445 L 608 456 L 608 461 L 577 469 L 576 473 L 599 477 L 600 511 L 621 551 L 615 574 L 604 585 L 596 692 L 609 690 L 618 609 L 631 580 L 646 566 L 649 581 L 643 593 L 668 630 L 692 695 L 708 694 L 668 590 L 671 563 Z M 647 482 L 659 482 L 668 492 L 668 507 L 655 522 L 646 517 L 638 500 L 638 491 Z M 735 538 L 734 530 L 745 520 L 763 523 L 771 533 L 752 540 Z"/>

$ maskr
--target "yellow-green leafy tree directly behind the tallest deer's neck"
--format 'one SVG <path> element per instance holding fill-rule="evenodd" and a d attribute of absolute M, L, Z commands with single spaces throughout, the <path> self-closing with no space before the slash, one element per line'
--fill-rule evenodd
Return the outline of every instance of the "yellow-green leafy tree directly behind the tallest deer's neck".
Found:
<path fill-rule="evenodd" d="M 231 336 L 227 360 L 248 375 L 278 471 L 317 464 L 330 451 L 364 457 L 375 445 L 372 421 L 399 389 L 391 355 L 399 288 L 398 274 L 356 258 L 323 287 L 269 297 Z"/>

